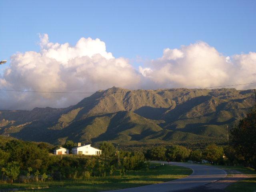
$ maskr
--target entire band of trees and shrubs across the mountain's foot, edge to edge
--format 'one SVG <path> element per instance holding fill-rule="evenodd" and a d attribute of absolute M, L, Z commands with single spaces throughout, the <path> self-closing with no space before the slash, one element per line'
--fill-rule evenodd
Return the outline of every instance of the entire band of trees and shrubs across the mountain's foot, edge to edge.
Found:
<path fill-rule="evenodd" d="M 102 142 L 101 156 L 53 155 L 52 146 L 41 142 L 0 140 L 0 175 L 3 182 L 44 182 L 46 180 L 86 179 L 130 174 L 149 166 L 147 160 L 208 162 L 211 164 L 251 166 L 256 168 L 256 109 L 240 120 L 231 131 L 226 146 L 210 144 L 204 149 L 190 150 L 184 146 L 158 146 L 146 152 L 116 153 L 110 142 Z M 76 144 L 67 141 L 71 150 Z"/>

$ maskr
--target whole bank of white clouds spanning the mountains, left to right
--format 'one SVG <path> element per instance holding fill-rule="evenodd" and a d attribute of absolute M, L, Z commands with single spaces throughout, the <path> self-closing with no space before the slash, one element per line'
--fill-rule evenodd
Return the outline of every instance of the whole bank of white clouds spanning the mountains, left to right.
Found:
<path fill-rule="evenodd" d="M 100 39 L 80 38 L 75 46 L 40 35 L 40 52 L 12 55 L 0 76 L 0 89 L 95 92 L 112 86 L 129 89 L 200 88 L 256 82 L 256 52 L 224 56 L 206 42 L 164 49 L 161 58 L 136 69 L 115 58 Z M 254 88 L 240 86 L 239 89 Z M 0 109 L 66 107 L 90 94 L 0 91 Z"/>

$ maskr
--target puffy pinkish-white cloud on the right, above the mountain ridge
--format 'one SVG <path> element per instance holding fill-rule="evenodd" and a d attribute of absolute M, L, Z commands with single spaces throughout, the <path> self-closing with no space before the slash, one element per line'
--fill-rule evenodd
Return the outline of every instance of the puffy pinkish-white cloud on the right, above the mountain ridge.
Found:
<path fill-rule="evenodd" d="M 180 49 L 165 49 L 161 58 L 152 60 L 145 68 L 140 66 L 140 72 L 148 77 L 147 84 L 159 88 L 204 88 L 256 82 L 255 54 L 224 56 L 207 43 L 197 42 Z"/>

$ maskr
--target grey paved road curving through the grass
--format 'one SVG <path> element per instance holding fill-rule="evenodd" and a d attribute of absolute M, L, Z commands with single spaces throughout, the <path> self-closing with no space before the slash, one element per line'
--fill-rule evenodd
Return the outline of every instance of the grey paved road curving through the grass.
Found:
<path fill-rule="evenodd" d="M 161 161 L 155 162 L 166 163 Z M 171 162 L 171 164 L 191 168 L 193 170 L 193 173 L 188 177 L 165 183 L 146 185 L 128 189 L 111 190 L 111 192 L 172 192 L 177 190 L 186 190 L 217 181 L 221 178 L 226 177 L 227 175 L 224 170 L 213 166 L 179 162 Z"/>

